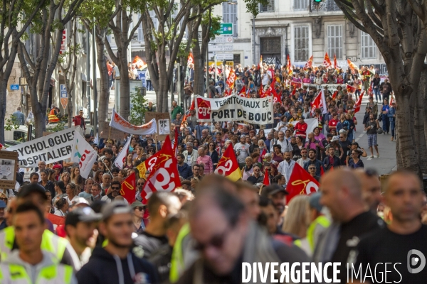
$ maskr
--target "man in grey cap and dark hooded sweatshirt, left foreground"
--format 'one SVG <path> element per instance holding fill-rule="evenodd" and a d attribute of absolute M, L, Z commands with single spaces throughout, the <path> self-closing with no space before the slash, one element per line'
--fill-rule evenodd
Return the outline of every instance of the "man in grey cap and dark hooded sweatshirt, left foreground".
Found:
<path fill-rule="evenodd" d="M 154 266 L 135 256 L 132 247 L 132 209 L 127 202 L 115 201 L 102 207 L 99 230 L 108 240 L 95 247 L 88 263 L 77 273 L 79 283 L 157 283 Z"/>

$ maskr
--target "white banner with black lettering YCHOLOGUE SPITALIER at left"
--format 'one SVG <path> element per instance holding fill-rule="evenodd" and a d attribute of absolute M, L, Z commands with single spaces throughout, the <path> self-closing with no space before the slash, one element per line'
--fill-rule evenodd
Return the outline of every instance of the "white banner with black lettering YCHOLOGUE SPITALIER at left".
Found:
<path fill-rule="evenodd" d="M 80 128 L 80 127 L 79 127 Z M 70 158 L 77 129 L 72 127 L 48 136 L 37 138 L 7 148 L 8 151 L 19 153 L 19 168 L 36 168 L 43 160 L 46 164 Z"/>

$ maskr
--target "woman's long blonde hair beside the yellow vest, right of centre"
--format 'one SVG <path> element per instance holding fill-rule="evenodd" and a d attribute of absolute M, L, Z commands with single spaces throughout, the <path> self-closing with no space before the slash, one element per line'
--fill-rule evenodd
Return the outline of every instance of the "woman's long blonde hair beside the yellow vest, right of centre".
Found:
<path fill-rule="evenodd" d="M 286 209 L 285 222 L 282 230 L 304 239 L 310 226 L 310 197 L 298 195 L 292 198 Z"/>

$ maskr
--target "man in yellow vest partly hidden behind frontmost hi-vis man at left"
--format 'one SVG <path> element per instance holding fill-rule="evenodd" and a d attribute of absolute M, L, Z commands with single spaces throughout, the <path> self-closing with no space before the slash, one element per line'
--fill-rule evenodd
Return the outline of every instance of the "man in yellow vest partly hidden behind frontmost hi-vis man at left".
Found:
<path fill-rule="evenodd" d="M 38 209 L 41 212 L 46 211 L 46 203 L 48 202 L 48 197 L 46 197 L 46 190 L 40 185 L 24 185 L 19 192 L 19 196 L 16 199 L 16 206 L 32 202 L 36 204 Z M 14 214 L 14 212 L 8 212 L 8 214 Z M 46 221 L 46 220 L 45 220 Z M 14 226 L 8 226 L 7 228 L 0 231 L 0 258 L 1 261 L 9 258 L 13 251 L 19 249 L 19 243 L 15 239 L 15 228 Z M 78 257 L 73 251 L 73 247 L 70 246 L 70 243 L 59 236 L 56 236 L 48 229 L 45 229 L 43 232 L 43 241 L 41 242 L 41 249 L 53 253 L 54 256 L 60 263 L 73 266 L 73 268 L 78 267 Z"/>

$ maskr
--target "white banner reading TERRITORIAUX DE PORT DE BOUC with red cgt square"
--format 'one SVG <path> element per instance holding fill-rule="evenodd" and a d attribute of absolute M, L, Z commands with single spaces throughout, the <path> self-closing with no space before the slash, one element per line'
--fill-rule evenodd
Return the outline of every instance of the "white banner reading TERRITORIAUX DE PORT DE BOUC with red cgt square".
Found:
<path fill-rule="evenodd" d="M 273 96 L 246 99 L 232 94 L 219 99 L 196 97 L 196 117 L 202 122 L 246 121 L 250 124 L 273 124 Z"/>

